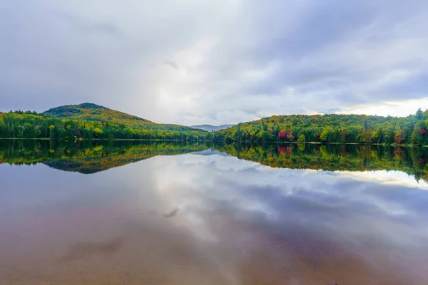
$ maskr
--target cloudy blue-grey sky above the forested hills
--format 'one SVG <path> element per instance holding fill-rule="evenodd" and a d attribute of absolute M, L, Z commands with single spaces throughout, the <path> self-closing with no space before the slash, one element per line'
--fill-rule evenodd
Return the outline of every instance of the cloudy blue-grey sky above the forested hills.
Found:
<path fill-rule="evenodd" d="M 0 1 L 0 111 L 158 123 L 428 108 L 425 0 Z"/>

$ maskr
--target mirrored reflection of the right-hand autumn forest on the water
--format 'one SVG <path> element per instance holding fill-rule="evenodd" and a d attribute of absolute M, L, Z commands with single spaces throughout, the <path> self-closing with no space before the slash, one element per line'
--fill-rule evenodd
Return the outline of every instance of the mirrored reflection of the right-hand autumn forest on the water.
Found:
<path fill-rule="evenodd" d="M 222 152 L 270 167 L 330 171 L 398 170 L 428 181 L 425 148 L 372 145 L 223 145 Z"/>

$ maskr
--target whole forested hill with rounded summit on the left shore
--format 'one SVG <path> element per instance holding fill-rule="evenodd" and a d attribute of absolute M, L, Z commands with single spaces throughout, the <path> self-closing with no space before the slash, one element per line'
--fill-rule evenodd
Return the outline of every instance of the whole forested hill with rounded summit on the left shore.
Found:
<path fill-rule="evenodd" d="M 157 124 L 92 104 L 64 105 L 44 113 L 0 113 L 0 138 L 205 140 L 210 133 Z"/>

